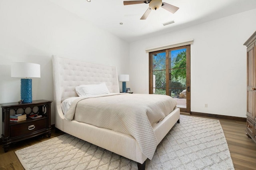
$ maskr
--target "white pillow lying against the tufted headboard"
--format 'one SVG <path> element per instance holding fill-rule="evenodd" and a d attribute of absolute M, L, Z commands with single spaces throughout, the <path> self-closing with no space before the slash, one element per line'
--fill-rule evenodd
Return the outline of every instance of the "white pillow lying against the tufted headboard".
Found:
<path fill-rule="evenodd" d="M 110 93 L 106 83 L 98 85 L 80 85 L 76 86 L 76 93 L 79 97 L 88 97 L 94 95 L 104 95 Z"/>

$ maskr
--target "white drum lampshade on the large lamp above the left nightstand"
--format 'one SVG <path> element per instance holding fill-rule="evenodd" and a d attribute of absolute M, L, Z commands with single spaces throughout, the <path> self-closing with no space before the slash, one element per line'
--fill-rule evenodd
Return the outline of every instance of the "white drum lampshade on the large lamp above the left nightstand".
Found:
<path fill-rule="evenodd" d="M 40 64 L 14 62 L 11 64 L 11 77 L 40 78 Z"/>

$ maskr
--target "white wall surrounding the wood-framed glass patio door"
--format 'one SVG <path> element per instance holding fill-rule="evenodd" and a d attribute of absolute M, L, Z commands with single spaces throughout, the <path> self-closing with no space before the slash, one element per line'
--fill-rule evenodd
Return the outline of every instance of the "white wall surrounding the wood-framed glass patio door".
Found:
<path fill-rule="evenodd" d="M 191 111 L 246 117 L 246 47 L 256 30 L 256 9 L 130 43 L 130 82 L 148 93 L 145 49 L 188 39 L 191 45 Z M 208 108 L 204 104 L 208 104 Z"/>

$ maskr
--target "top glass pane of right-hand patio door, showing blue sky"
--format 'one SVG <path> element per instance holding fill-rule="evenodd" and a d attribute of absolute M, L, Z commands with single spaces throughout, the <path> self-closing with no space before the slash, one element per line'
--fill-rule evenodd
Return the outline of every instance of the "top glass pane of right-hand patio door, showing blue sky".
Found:
<path fill-rule="evenodd" d="M 186 48 L 170 51 L 169 58 L 170 69 L 186 68 Z"/>

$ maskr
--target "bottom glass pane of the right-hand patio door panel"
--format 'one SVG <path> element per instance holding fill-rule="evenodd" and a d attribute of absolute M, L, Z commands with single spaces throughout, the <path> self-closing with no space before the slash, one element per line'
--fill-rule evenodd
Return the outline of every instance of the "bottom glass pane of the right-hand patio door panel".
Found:
<path fill-rule="evenodd" d="M 170 96 L 177 101 L 177 107 L 187 108 L 186 89 L 169 89 Z"/>

